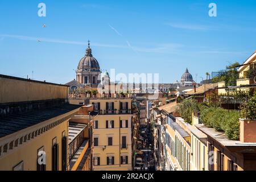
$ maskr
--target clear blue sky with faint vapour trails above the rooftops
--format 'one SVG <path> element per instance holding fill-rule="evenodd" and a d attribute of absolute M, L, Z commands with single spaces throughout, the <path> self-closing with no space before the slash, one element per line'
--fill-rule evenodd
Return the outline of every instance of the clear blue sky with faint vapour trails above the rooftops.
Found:
<path fill-rule="evenodd" d="M 47 16 L 38 16 L 46 3 Z M 209 3 L 217 17 L 209 17 Z M 64 84 L 91 41 L 101 69 L 194 80 L 256 49 L 256 1 L 0 1 L 0 74 Z M 43 28 L 46 24 L 46 28 Z M 40 39 L 42 42 L 38 42 Z"/>

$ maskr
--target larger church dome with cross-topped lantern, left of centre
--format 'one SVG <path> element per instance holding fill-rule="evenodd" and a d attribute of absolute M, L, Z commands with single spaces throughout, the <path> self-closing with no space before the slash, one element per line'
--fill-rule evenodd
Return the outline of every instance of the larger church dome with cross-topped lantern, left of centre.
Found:
<path fill-rule="evenodd" d="M 78 71 L 100 71 L 100 64 L 92 55 L 92 49 L 90 48 L 90 43 L 88 43 L 88 48 L 86 49 L 85 56 L 79 61 L 77 67 Z"/>

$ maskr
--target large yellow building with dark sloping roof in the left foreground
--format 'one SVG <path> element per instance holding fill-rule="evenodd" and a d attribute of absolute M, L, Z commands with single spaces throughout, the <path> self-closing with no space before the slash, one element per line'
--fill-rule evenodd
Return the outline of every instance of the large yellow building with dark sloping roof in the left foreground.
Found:
<path fill-rule="evenodd" d="M 0 75 L 0 170 L 66 170 L 68 86 Z"/>

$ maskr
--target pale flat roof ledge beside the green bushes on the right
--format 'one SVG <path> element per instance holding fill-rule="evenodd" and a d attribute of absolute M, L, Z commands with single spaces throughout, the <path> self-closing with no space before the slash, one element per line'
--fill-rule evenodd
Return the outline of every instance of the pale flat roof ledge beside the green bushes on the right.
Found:
<path fill-rule="evenodd" d="M 208 135 L 210 138 L 217 140 L 225 147 L 256 147 L 256 143 L 243 143 L 240 140 L 230 140 L 224 132 L 216 131 L 213 128 L 204 125 L 195 125 L 197 129 Z"/>

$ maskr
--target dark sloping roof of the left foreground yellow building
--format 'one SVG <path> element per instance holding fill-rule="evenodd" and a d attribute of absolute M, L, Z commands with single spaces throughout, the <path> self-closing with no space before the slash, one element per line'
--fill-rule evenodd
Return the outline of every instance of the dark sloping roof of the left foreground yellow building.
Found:
<path fill-rule="evenodd" d="M 78 109 L 80 105 L 64 104 L 55 107 L 49 107 L 41 110 L 31 110 L 22 114 L 11 114 L 0 118 L 0 138 L 13 134 L 19 130 L 58 117 L 69 111 Z"/>

